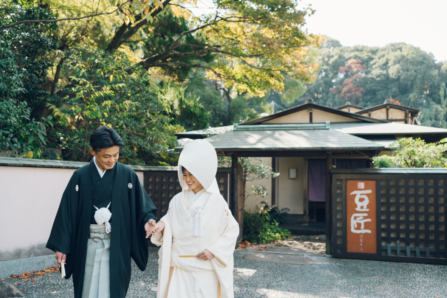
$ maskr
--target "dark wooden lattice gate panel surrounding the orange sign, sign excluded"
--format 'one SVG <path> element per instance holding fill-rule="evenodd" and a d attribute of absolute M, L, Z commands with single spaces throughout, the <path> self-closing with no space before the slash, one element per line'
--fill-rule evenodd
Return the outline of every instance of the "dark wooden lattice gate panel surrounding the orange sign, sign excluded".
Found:
<path fill-rule="evenodd" d="M 447 264 L 444 178 L 430 174 L 333 175 L 333 256 Z M 347 252 L 346 180 L 376 180 L 376 255 Z"/>

